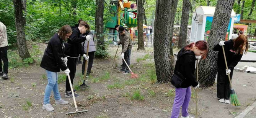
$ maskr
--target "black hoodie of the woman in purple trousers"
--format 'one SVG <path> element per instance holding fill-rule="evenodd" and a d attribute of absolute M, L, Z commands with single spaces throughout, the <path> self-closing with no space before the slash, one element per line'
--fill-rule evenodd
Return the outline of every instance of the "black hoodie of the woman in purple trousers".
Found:
<path fill-rule="evenodd" d="M 181 88 L 189 86 L 197 86 L 198 82 L 195 77 L 196 55 L 191 50 L 182 48 L 178 53 L 178 59 L 174 68 L 174 72 L 180 72 L 186 79 L 181 84 Z"/>

